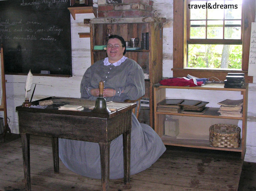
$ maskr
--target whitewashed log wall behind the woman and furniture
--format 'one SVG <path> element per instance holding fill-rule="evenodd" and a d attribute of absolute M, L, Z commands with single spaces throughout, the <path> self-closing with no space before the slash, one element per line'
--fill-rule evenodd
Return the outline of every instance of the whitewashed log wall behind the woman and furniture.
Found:
<path fill-rule="evenodd" d="M 95 1 L 94 1 L 95 3 Z M 173 67 L 173 1 L 154 0 L 155 15 L 167 18 L 163 30 L 163 77 L 172 77 L 171 68 Z M 72 77 L 42 77 L 34 76 L 34 83 L 37 84 L 33 100 L 47 96 L 80 97 L 80 81 L 86 69 L 90 66 L 90 39 L 79 38 L 79 32 L 89 32 L 89 27 L 83 24 L 83 19 L 94 18 L 94 14 L 76 14 L 76 20 L 71 16 L 71 35 L 72 35 Z M 10 119 L 9 127 L 12 133 L 19 133 L 18 116 L 15 107 L 25 100 L 25 82 L 23 75 L 6 75 L 7 89 L 7 116 Z M 256 78 L 256 77 L 255 77 Z M 32 86 L 32 89 L 34 86 Z M 28 96 L 31 96 L 32 91 Z M 169 97 L 179 95 L 179 92 L 167 92 Z M 191 94 L 190 94 L 191 95 Z M 193 94 L 191 99 L 196 97 Z M 249 85 L 249 104 L 248 104 L 248 129 L 247 129 L 247 151 L 245 160 L 256 162 L 256 79 Z M 207 92 L 207 99 L 216 99 L 216 95 Z M 224 94 L 224 97 L 230 97 Z M 238 95 L 239 96 L 239 95 Z M 217 101 L 217 100 L 216 100 Z M 3 116 L 3 112 L 0 112 Z"/>

